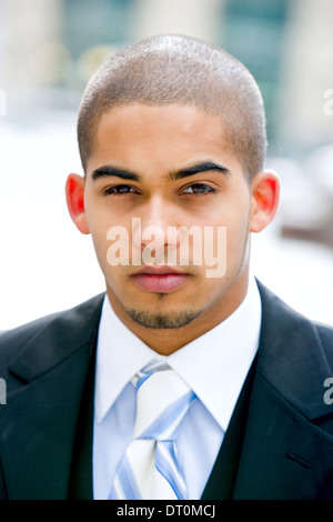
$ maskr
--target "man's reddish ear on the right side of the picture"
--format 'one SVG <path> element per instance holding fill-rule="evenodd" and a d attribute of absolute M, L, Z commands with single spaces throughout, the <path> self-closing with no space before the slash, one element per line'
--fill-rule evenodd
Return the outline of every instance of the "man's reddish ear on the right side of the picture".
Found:
<path fill-rule="evenodd" d="M 280 181 L 275 172 L 265 170 L 256 174 L 251 183 L 250 231 L 261 232 L 273 221 L 279 199 Z"/>

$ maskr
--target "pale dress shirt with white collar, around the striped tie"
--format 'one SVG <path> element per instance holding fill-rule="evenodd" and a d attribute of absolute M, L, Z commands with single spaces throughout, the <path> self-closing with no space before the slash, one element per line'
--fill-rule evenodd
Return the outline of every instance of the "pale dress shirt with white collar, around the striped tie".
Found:
<path fill-rule="evenodd" d="M 183 419 L 176 443 L 188 498 L 201 498 L 256 353 L 260 328 L 261 299 L 253 277 L 244 301 L 225 321 L 168 357 L 132 333 L 105 297 L 97 347 L 94 499 L 109 498 L 118 464 L 132 440 L 135 390 L 129 381 L 152 359 L 168 360 L 199 398 Z"/>

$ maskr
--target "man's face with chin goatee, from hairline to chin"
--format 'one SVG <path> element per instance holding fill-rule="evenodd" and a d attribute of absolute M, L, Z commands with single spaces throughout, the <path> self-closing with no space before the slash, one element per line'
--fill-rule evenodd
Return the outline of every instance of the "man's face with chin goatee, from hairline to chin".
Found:
<path fill-rule="evenodd" d="M 191 324 L 208 330 L 228 317 L 246 291 L 251 201 L 249 182 L 218 116 L 189 106 L 140 103 L 105 112 L 87 165 L 84 209 L 108 295 L 123 322 L 141 331 Z M 108 231 L 114 227 L 128 231 L 129 264 L 111 265 L 108 260 Z M 154 237 L 143 233 L 153 230 L 148 227 L 164 238 L 154 251 Z M 186 265 L 168 264 L 167 250 L 179 251 L 183 241 L 182 233 L 168 237 L 168 231 L 180 227 L 195 227 L 203 244 L 209 243 L 204 233 L 210 228 L 214 254 L 226 259 L 223 274 L 208 277 L 213 267 L 204 255 L 195 264 L 191 249 Z M 226 230 L 226 243 L 218 248 L 219 227 Z M 132 264 L 133 245 L 142 254 L 140 265 Z M 159 258 L 154 263 L 153 254 L 161 252 L 164 262 Z"/>

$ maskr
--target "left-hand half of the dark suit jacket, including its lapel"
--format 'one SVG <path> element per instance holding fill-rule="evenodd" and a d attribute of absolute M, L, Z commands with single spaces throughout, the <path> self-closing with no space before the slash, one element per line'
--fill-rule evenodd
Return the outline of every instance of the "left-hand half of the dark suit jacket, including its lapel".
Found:
<path fill-rule="evenodd" d="M 101 304 L 102 295 L 54 317 L 11 364 L 1 441 L 11 499 L 68 495 L 75 426 Z"/>

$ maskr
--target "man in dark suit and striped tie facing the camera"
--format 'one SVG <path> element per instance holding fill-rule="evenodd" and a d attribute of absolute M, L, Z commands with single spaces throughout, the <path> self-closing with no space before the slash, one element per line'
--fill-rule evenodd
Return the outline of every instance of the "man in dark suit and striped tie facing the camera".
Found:
<path fill-rule="evenodd" d="M 3 337 L 2 498 L 332 499 L 332 331 L 250 273 L 279 201 L 250 72 L 144 40 L 93 76 L 78 135 L 67 201 L 107 292 Z"/>

